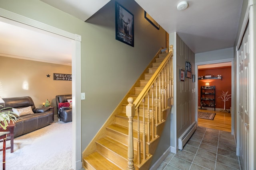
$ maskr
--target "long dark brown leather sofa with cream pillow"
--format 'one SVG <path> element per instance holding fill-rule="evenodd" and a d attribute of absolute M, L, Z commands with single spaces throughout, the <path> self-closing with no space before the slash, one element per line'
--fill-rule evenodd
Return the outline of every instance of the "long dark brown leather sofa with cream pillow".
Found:
<path fill-rule="evenodd" d="M 36 129 L 40 129 L 47 125 L 50 125 L 54 121 L 54 113 L 50 111 L 49 107 L 39 107 L 34 106 L 34 102 L 31 97 L 15 97 L 15 98 L 3 98 L 4 104 L 0 104 L 6 107 L 12 107 L 15 109 L 22 109 L 31 106 L 33 114 L 21 115 L 16 120 L 14 128 L 14 137 L 24 135 L 26 133 L 32 132 Z M 13 111 L 12 109 L 5 109 Z"/>

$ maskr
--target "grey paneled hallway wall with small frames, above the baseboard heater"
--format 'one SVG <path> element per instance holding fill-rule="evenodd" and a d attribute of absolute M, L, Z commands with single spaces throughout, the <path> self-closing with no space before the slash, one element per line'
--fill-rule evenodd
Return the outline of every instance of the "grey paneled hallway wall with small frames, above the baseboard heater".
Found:
<path fill-rule="evenodd" d="M 185 70 L 186 61 L 190 62 L 192 74 L 195 74 L 195 54 L 176 34 L 176 136 L 171 139 L 171 145 L 178 147 L 178 138 L 195 121 L 195 83 L 192 78 L 186 78 L 180 81 L 180 69 Z M 174 103 L 175 104 L 175 103 Z M 174 123 L 174 122 L 172 122 Z M 175 145 L 176 140 L 176 145 Z"/>

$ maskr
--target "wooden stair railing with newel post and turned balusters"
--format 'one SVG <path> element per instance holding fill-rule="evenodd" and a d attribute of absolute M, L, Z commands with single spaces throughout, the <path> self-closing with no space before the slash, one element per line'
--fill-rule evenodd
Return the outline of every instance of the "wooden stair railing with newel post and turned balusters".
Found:
<path fill-rule="evenodd" d="M 144 88 L 142 89 L 142 91 L 140 92 L 140 94 L 138 95 L 138 97 L 136 98 L 136 100 L 133 102 L 133 98 L 130 97 L 128 98 L 128 105 L 126 106 L 126 116 L 129 118 L 129 134 L 128 134 L 128 166 L 126 168 L 126 170 L 135 170 L 134 168 L 134 147 L 133 147 L 133 117 L 136 115 L 136 110 L 138 110 L 138 143 L 137 143 L 137 160 L 138 160 L 138 166 L 142 165 L 145 163 L 146 157 L 145 154 L 147 154 L 147 156 L 150 156 L 149 151 L 146 153 L 146 143 L 149 144 L 150 143 L 150 135 L 152 137 L 152 141 L 154 140 L 155 137 L 158 137 L 157 133 L 154 133 L 154 117 L 152 117 L 152 132 L 150 132 L 150 111 L 149 111 L 149 96 L 150 96 L 150 89 L 152 89 L 152 95 L 154 94 L 154 83 L 156 82 L 156 113 L 159 114 L 157 115 L 157 117 L 159 117 L 159 119 L 156 117 L 156 126 L 157 123 L 161 123 L 164 121 L 163 119 L 163 111 L 164 109 L 168 108 L 170 109 L 170 105 L 173 105 L 173 62 L 172 62 L 172 57 L 173 57 L 173 45 L 170 45 L 170 49 L 169 49 L 169 53 L 166 55 L 166 57 L 164 58 L 164 60 L 162 61 L 162 63 L 158 66 L 158 68 L 156 69 L 156 71 L 154 72 L 154 74 L 152 75 L 152 77 L 150 78 L 150 80 L 147 82 L 147 84 L 144 86 Z M 168 65 L 167 65 L 168 64 Z M 168 67 L 168 69 L 166 70 L 166 67 Z M 165 69 L 165 70 L 164 70 Z M 166 73 L 167 72 L 167 73 Z M 166 78 L 166 74 L 168 74 L 167 78 Z M 161 78 L 160 76 L 162 76 L 162 88 L 160 86 L 161 84 Z M 157 78 L 158 78 L 158 82 L 159 82 L 159 98 L 158 98 L 158 93 L 157 93 Z M 167 79 L 167 83 L 168 83 L 168 94 L 166 94 L 166 79 Z M 165 85 L 164 85 L 164 80 L 165 80 Z M 161 94 L 162 93 L 162 96 Z M 148 141 L 146 142 L 146 138 L 145 138 L 145 98 L 146 95 L 148 95 L 148 104 L 147 104 L 147 108 L 148 108 Z M 152 96 L 152 104 L 153 104 L 153 96 Z M 165 98 L 165 99 L 163 99 Z M 166 98 L 171 98 L 171 102 L 168 103 L 168 105 L 166 104 Z M 158 106 L 158 102 L 159 102 L 159 106 Z M 139 109 L 138 107 L 140 106 L 140 104 L 142 103 L 142 107 L 143 107 L 143 137 L 142 137 L 142 150 L 140 147 L 140 121 L 139 121 Z M 165 105 L 164 105 L 165 103 Z M 154 110 L 154 104 L 152 105 L 152 115 L 153 114 L 153 110 Z M 158 119 L 158 120 L 157 120 Z M 141 160 L 140 158 L 140 154 L 141 152 L 143 153 L 143 160 Z"/>

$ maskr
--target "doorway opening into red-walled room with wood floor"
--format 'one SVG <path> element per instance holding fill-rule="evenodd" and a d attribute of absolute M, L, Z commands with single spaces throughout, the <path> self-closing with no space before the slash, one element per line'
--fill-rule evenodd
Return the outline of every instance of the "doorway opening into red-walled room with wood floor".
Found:
<path fill-rule="evenodd" d="M 224 112 L 224 102 L 220 98 L 222 91 L 232 96 L 234 91 L 233 84 L 233 59 L 224 59 L 218 61 L 208 61 L 195 63 L 195 72 L 198 81 L 196 81 L 196 120 L 198 126 L 219 129 L 228 131 L 234 134 L 234 111 L 233 98 L 230 98 L 226 103 L 226 111 Z M 229 74 L 221 73 L 221 71 L 229 71 Z M 202 74 L 202 75 L 201 75 Z M 224 79 L 226 78 L 226 79 Z M 226 82 L 228 81 L 228 83 Z M 214 89 L 214 92 L 206 92 L 206 95 L 201 96 L 202 88 L 209 86 Z M 229 86 L 229 87 L 228 87 Z M 213 91 L 213 90 L 212 90 Z M 202 101 L 201 98 L 205 101 Z M 212 99 L 213 98 L 213 99 Z M 199 112 L 207 114 L 216 113 L 213 120 L 198 118 Z M 200 114 L 204 114 L 200 113 Z"/>

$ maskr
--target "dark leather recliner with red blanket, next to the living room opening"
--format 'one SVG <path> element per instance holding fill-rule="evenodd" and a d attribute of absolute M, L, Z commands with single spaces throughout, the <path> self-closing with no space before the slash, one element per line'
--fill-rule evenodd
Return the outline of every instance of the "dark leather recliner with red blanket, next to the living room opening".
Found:
<path fill-rule="evenodd" d="M 58 95 L 56 96 L 56 104 L 59 106 L 60 103 L 68 102 L 68 100 L 72 100 L 72 94 L 67 95 Z M 59 120 L 63 122 L 72 121 L 72 108 L 70 107 L 60 107 L 58 108 L 58 117 Z"/>

